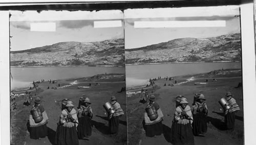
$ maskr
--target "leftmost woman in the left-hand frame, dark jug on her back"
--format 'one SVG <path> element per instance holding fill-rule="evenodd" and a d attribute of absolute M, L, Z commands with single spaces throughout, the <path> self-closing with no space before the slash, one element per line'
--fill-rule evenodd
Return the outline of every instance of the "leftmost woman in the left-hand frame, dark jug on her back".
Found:
<path fill-rule="evenodd" d="M 48 135 L 48 128 L 46 124 L 49 121 L 45 108 L 41 105 L 39 97 L 35 98 L 33 108 L 29 115 L 29 132 L 30 138 L 40 139 Z"/>

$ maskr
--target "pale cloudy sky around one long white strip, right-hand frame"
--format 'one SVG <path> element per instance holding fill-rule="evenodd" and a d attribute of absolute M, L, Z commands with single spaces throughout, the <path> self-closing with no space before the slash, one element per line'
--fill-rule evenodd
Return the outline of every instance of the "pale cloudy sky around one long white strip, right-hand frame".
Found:
<path fill-rule="evenodd" d="M 163 11 L 163 12 L 162 12 Z M 167 42 L 177 38 L 208 38 L 240 33 L 239 7 L 135 9 L 124 11 L 125 49 Z M 134 28 L 134 21 L 225 20 L 226 27 Z"/>

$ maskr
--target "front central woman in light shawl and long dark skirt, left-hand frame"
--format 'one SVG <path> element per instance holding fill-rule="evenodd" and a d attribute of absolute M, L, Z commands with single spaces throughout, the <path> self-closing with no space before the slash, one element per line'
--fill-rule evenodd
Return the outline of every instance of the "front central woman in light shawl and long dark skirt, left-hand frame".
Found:
<path fill-rule="evenodd" d="M 65 109 L 61 111 L 59 125 L 56 131 L 55 144 L 78 145 L 76 127 L 78 125 L 76 110 L 71 101 L 68 101 Z"/>

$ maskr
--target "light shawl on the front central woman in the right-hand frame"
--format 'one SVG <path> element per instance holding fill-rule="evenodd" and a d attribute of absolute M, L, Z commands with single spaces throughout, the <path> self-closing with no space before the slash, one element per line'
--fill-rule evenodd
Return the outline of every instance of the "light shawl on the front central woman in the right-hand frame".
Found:
<path fill-rule="evenodd" d="M 183 111 L 186 112 L 186 114 L 189 116 L 190 119 L 186 119 L 186 118 L 182 119 L 182 118 L 180 117 L 181 112 L 183 112 Z M 185 109 L 182 109 L 181 106 L 178 106 L 178 107 L 176 108 L 176 111 L 175 111 L 175 114 L 174 114 L 174 115 L 175 115 L 175 120 L 178 121 L 178 124 L 186 125 L 186 124 L 189 123 L 189 121 L 190 121 L 191 124 L 193 123 L 192 112 L 191 112 L 191 109 L 190 109 L 190 107 L 189 107 L 188 105 L 185 107 Z"/>

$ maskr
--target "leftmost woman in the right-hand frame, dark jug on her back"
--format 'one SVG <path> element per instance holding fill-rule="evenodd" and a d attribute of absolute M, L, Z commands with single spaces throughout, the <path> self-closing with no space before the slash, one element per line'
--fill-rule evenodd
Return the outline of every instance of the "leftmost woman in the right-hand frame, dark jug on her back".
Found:
<path fill-rule="evenodd" d="M 150 102 L 147 103 L 147 107 L 144 112 L 143 128 L 146 132 L 146 136 L 155 137 L 163 133 L 163 113 L 160 106 L 155 102 L 156 97 L 154 94 L 150 95 Z"/>

